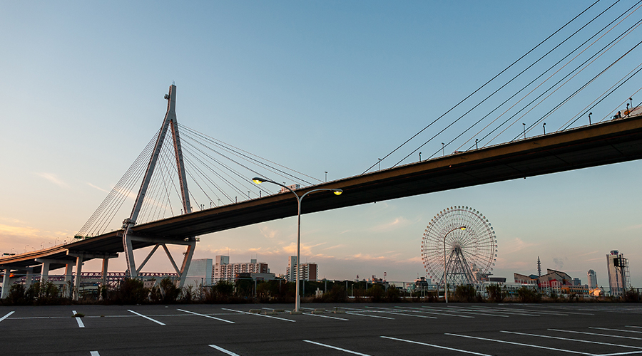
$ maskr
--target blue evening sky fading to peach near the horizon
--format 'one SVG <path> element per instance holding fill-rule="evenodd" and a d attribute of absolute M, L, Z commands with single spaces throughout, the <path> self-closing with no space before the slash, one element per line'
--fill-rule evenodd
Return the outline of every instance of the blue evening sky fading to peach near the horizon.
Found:
<path fill-rule="evenodd" d="M 599 3 L 585 16 L 608 5 Z M 611 11 L 631 5 L 617 4 Z M 171 83 L 177 85 L 178 122 L 313 177 L 325 179 L 328 172 L 331 181 L 364 172 L 586 6 L 584 1 L 2 1 L 0 251 L 33 251 L 71 239 L 160 127 Z M 636 12 L 631 19 L 639 17 Z M 639 30 L 630 37 L 640 38 Z M 632 48 L 634 39 L 623 40 L 595 68 Z M 561 51 L 578 44 L 565 43 Z M 540 48 L 533 58 L 541 54 Z M 634 56 L 547 117 L 546 130 L 564 126 L 638 66 Z M 538 63 L 534 73 L 549 64 L 548 59 Z M 574 80 L 584 83 L 582 78 L 598 73 L 595 68 Z M 518 71 L 511 68 L 506 75 Z M 504 93 L 515 93 L 528 80 L 516 80 Z M 444 115 L 385 159 L 382 168 L 416 159 L 415 148 L 504 81 Z M 639 89 L 634 81 L 591 109 L 593 120 L 623 108 Z M 566 98 L 565 90 L 551 100 Z M 493 105 L 486 102 L 477 110 L 488 112 Z M 421 147 L 424 159 L 481 115 L 472 112 Z M 523 120 L 536 122 L 539 115 L 534 110 Z M 511 140 L 521 133 L 520 122 L 484 144 Z M 539 130 L 541 123 L 528 135 Z M 405 155 L 414 158 L 404 161 Z M 641 174 L 642 162 L 633 161 L 308 214 L 302 218 L 302 262 L 318 263 L 321 278 L 387 273 L 388 281 L 413 281 L 425 275 L 420 246 L 430 219 L 447 206 L 465 205 L 494 226 L 499 241 L 494 276 L 510 281 L 513 273 L 536 273 L 539 256 L 543 270 L 565 271 L 586 283 L 586 272 L 593 269 L 598 284 L 606 286 L 606 254 L 617 249 L 629 258 L 633 286 L 642 287 Z M 296 219 L 281 219 L 200 236 L 194 258 L 229 254 L 233 263 L 258 258 L 272 272 L 285 273 L 295 241 Z M 180 256 L 179 249 L 172 251 Z M 144 255 L 136 252 L 138 261 Z M 99 268 L 98 261 L 89 261 L 83 271 Z M 110 262 L 111 271 L 124 269 L 123 256 Z M 171 267 L 158 253 L 144 271 Z"/>

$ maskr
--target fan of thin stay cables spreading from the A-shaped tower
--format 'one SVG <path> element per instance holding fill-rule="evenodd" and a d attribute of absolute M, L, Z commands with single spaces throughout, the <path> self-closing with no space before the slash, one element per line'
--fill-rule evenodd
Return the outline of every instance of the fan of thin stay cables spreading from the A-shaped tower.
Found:
<path fill-rule="evenodd" d="M 179 129 L 192 211 L 273 194 L 265 187 L 254 184 L 250 180 L 251 177 L 287 180 L 300 186 L 311 185 L 312 181 L 322 182 L 185 125 L 179 124 Z M 156 132 L 152 137 L 141 155 L 138 155 L 98 209 L 78 231 L 76 238 L 85 239 L 120 229 L 120 224 L 116 225 L 113 220 L 116 216 L 122 219 L 129 216 L 129 211 L 121 211 L 121 207 L 128 198 L 133 205 L 159 133 L 160 131 Z M 168 132 L 163 140 L 136 224 L 185 214 L 177 167 L 173 140 Z"/>

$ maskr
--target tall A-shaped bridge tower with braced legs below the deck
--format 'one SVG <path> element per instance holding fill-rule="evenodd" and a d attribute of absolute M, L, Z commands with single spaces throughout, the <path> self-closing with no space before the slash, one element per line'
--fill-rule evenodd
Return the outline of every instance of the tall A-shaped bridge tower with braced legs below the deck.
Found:
<path fill-rule="evenodd" d="M 123 229 L 125 230 L 123 234 L 123 247 L 125 248 L 125 257 L 127 261 L 127 273 L 132 278 L 136 278 L 138 273 L 141 271 L 145 263 L 149 261 L 149 258 L 153 256 L 158 247 L 162 246 L 167 254 L 172 266 L 174 267 L 180 280 L 178 282 L 179 287 L 183 287 L 185 283 L 185 277 L 187 276 L 188 270 L 190 268 L 190 262 L 192 261 L 192 256 L 194 254 L 194 248 L 196 247 L 196 237 L 195 236 L 185 236 L 183 239 L 160 239 L 155 237 L 148 236 L 136 236 L 132 228 L 136 226 L 136 219 L 138 219 L 138 213 L 141 211 L 141 206 L 143 205 L 143 200 L 145 199 L 145 194 L 151 181 L 154 168 L 156 167 L 156 162 L 158 161 L 158 156 L 161 154 L 161 147 L 163 147 L 163 140 L 165 140 L 165 135 L 168 133 L 168 129 L 172 135 L 172 141 L 174 146 L 174 155 L 176 158 L 176 168 L 178 169 L 178 179 L 180 180 L 180 194 L 183 201 L 183 211 L 185 214 L 192 212 L 190 206 L 190 197 L 187 187 L 187 179 L 185 178 L 185 165 L 183 164 L 183 150 L 180 148 L 180 137 L 178 135 L 178 122 L 176 121 L 176 85 L 172 84 L 169 88 L 169 93 L 165 94 L 165 99 L 167 100 L 167 113 L 165 114 L 165 120 L 163 120 L 163 126 L 161 127 L 161 132 L 158 133 L 158 138 L 156 139 L 156 146 L 152 152 L 152 155 L 149 159 L 147 165 L 147 170 L 145 176 L 143 177 L 143 183 L 141 184 L 141 189 L 138 190 L 138 195 L 136 196 L 136 203 L 134 203 L 133 209 L 131 210 L 131 215 L 128 219 L 123 221 Z M 146 241 L 156 243 L 156 246 L 152 248 L 148 256 L 143 260 L 138 268 L 136 268 L 136 263 L 133 256 L 133 241 Z M 176 244 L 187 246 L 183 258 L 183 263 L 180 268 L 176 265 L 174 258 L 169 252 L 166 244 Z"/>

